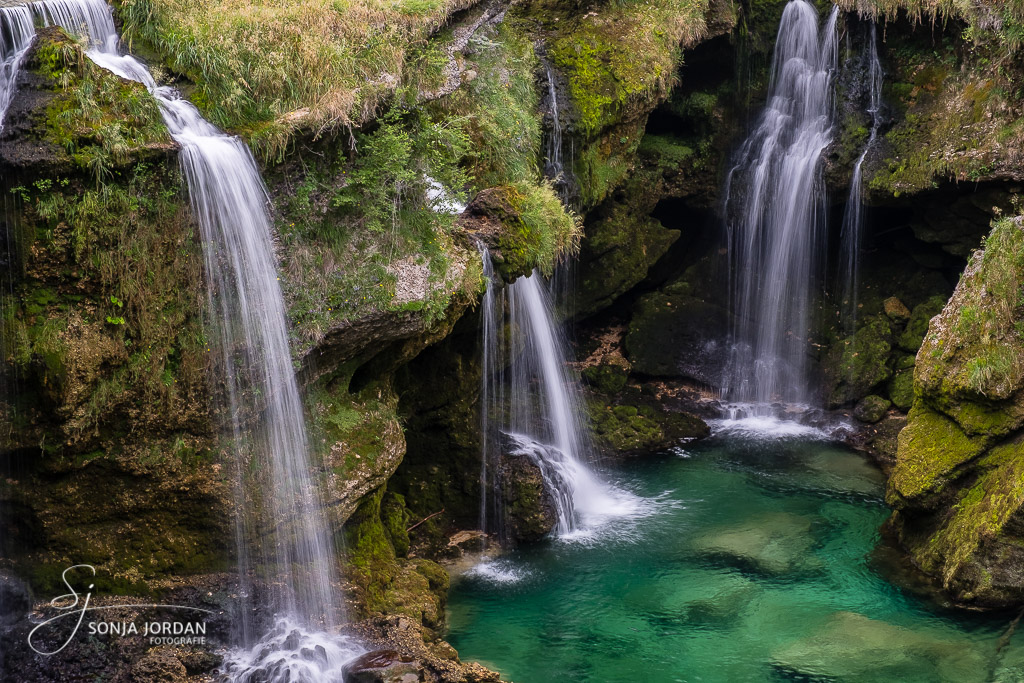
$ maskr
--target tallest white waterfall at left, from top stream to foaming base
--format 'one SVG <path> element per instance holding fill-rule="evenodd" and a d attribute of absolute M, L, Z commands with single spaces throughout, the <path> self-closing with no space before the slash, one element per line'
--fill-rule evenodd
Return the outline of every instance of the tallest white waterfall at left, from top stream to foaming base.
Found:
<path fill-rule="evenodd" d="M 5 40 L 23 35 L 15 30 L 24 28 L 25 11 L 31 11 L 35 22 L 87 37 L 87 54 L 95 63 L 145 85 L 181 146 L 181 169 L 203 238 L 211 327 L 230 402 L 229 436 L 239 450 L 240 469 L 246 465 L 267 473 L 260 495 L 270 548 L 264 549 L 263 562 L 275 588 L 278 623 L 253 644 L 256 634 L 246 621 L 253 605 L 243 605 L 242 635 L 251 649 L 229 653 L 225 673 L 238 681 L 340 681 L 340 663 L 354 651 L 329 635 L 341 618 L 335 547 L 310 473 L 268 197 L 255 160 L 242 140 L 219 131 L 177 91 L 158 86 L 141 62 L 121 53 L 111 8 L 103 0 L 45 0 L 4 9 L 0 22 Z M 4 71 L 7 80 L 0 92 L 5 101 L 30 43 L 31 36 L 26 44 L 4 52 L 4 65 L 13 65 L 9 73 L 6 67 Z M 254 417 L 258 424 L 252 423 Z M 244 492 L 240 496 L 240 501 L 246 500 Z M 243 578 L 248 573 L 246 539 L 252 533 L 255 529 L 240 524 Z"/>

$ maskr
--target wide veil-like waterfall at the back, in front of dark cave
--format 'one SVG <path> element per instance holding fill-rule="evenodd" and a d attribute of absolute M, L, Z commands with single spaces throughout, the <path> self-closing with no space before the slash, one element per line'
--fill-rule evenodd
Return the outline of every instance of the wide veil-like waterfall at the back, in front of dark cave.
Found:
<path fill-rule="evenodd" d="M 831 141 L 834 7 L 782 12 L 768 100 L 725 183 L 730 299 L 736 323 L 723 396 L 807 402 L 812 296 L 824 251 L 821 154 Z"/>

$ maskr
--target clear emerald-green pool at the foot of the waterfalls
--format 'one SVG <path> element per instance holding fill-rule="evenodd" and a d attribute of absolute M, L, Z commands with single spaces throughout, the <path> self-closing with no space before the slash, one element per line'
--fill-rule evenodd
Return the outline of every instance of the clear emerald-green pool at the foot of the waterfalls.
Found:
<path fill-rule="evenodd" d="M 654 511 L 457 580 L 463 659 L 518 683 L 1024 681 L 1022 639 L 996 653 L 1012 616 L 941 610 L 873 570 L 888 512 L 856 454 L 717 436 L 610 476 Z"/>

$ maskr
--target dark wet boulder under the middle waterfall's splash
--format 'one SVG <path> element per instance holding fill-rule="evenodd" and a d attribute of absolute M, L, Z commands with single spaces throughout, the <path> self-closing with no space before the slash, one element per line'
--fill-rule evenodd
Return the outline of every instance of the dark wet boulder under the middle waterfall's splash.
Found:
<path fill-rule="evenodd" d="M 524 454 L 506 453 L 498 465 L 505 519 L 512 539 L 539 541 L 555 528 L 558 514 L 541 468 Z"/>

